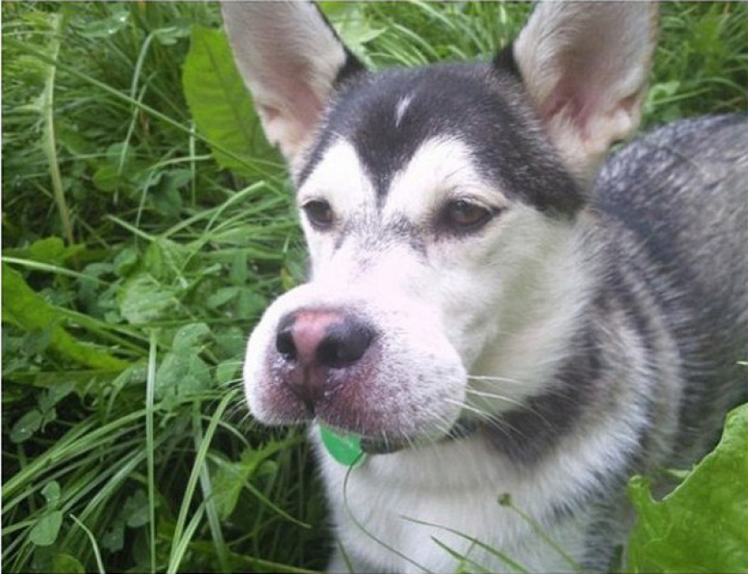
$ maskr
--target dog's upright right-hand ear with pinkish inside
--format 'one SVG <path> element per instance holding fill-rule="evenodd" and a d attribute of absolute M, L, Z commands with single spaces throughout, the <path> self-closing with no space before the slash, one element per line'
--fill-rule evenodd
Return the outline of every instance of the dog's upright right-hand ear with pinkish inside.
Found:
<path fill-rule="evenodd" d="M 656 36 L 656 2 L 546 2 L 513 44 L 550 140 L 583 184 L 636 131 Z"/>

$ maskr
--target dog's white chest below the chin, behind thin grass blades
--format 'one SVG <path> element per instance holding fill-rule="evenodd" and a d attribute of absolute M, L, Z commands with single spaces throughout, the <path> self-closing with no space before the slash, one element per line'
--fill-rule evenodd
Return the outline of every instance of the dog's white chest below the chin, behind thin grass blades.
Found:
<path fill-rule="evenodd" d="M 537 476 L 485 461 L 483 450 L 441 445 L 371 458 L 350 473 L 322 453 L 337 538 L 356 571 L 568 570 L 535 534 L 538 519 L 527 516 L 548 518 L 540 518 L 544 533 L 572 555 L 582 551 L 586 520 L 553 518 L 563 489 L 543 489 Z M 516 508 L 500 503 L 506 493 Z"/>

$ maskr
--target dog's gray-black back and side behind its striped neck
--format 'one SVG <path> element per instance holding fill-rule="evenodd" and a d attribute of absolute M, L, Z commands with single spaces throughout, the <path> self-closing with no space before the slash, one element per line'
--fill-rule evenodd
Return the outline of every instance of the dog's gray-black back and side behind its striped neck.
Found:
<path fill-rule="evenodd" d="M 632 297 L 651 299 L 642 313 L 662 316 L 677 346 L 683 403 L 665 464 L 683 466 L 748 398 L 738 365 L 748 356 L 748 122 L 678 122 L 636 141 L 607 162 L 593 206 L 616 246 L 611 265 L 632 277 Z"/>

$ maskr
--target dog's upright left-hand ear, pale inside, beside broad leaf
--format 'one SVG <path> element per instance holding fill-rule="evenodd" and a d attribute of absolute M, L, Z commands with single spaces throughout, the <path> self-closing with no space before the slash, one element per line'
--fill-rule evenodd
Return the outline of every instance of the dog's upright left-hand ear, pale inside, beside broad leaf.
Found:
<path fill-rule="evenodd" d="M 335 83 L 364 68 L 311 3 L 227 0 L 221 11 L 267 140 L 293 164 Z"/>

